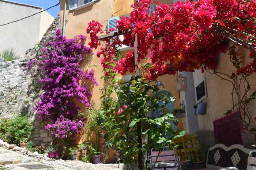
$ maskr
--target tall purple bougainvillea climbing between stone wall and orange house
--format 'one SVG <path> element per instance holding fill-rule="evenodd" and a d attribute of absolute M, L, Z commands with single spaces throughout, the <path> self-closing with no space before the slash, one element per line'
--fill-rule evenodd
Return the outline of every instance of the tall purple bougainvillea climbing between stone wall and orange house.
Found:
<path fill-rule="evenodd" d="M 39 118 L 49 121 L 45 129 L 53 138 L 74 137 L 83 127 L 82 118 L 78 116 L 79 108 L 73 100 L 90 107 L 88 96 L 91 93 L 86 86 L 79 85 L 79 80 L 98 85 L 94 70 L 83 71 L 79 68 L 80 62 L 92 53 L 91 48 L 84 46 L 85 40 L 83 35 L 67 39 L 57 30 L 52 41 L 42 44 L 41 57 L 31 62 L 42 73 L 39 82 L 44 91 L 35 110 Z M 29 69 L 31 63 L 28 63 Z"/>

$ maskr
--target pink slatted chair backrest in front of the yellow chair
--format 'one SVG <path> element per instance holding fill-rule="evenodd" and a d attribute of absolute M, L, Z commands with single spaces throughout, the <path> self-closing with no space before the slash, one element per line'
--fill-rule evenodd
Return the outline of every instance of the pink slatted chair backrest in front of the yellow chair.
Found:
<path fill-rule="evenodd" d="M 152 148 L 151 149 L 151 162 L 176 161 L 174 148 L 172 148 L 172 149 L 173 150 L 162 151 L 159 154 L 158 151 L 153 151 L 153 148 Z M 158 158 L 157 158 L 157 156 L 158 156 Z"/>

